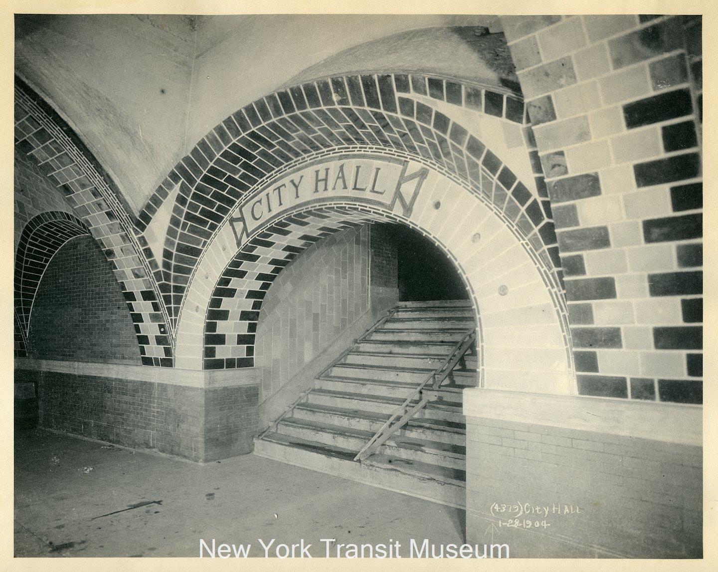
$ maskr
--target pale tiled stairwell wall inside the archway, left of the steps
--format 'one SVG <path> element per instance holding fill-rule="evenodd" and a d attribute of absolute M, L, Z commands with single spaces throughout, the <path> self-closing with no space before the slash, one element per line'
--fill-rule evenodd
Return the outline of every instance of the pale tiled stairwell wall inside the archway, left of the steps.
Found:
<path fill-rule="evenodd" d="M 304 250 L 272 283 L 255 342 L 262 400 L 368 310 L 368 237 L 367 225 L 334 233 Z"/>

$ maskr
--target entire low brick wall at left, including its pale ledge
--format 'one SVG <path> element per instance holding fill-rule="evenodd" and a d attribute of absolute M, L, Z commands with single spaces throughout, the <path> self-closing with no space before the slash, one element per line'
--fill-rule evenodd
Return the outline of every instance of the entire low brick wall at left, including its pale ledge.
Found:
<path fill-rule="evenodd" d="M 43 428 L 200 462 L 253 449 L 255 370 L 16 360 L 15 378 L 37 386 Z"/>

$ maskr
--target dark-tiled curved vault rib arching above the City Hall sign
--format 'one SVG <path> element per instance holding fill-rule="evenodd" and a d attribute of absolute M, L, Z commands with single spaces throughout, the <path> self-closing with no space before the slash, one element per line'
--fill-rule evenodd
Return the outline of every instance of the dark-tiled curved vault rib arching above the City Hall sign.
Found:
<path fill-rule="evenodd" d="M 137 222 L 144 230 L 177 188 L 162 271 L 155 272 L 172 328 L 197 261 L 242 197 L 280 169 L 331 149 L 398 151 L 469 187 L 528 241 L 562 291 L 554 224 L 531 128 L 526 126 L 524 134 L 538 197 L 482 141 L 427 105 L 442 100 L 523 125 L 523 100 L 494 89 L 401 73 L 338 76 L 272 93 L 226 118 L 172 169 Z"/>

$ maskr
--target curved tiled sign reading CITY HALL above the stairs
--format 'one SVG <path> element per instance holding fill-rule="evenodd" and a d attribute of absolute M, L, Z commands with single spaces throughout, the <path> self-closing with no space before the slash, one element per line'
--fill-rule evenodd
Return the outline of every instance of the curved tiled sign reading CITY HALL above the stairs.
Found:
<path fill-rule="evenodd" d="M 253 192 L 230 224 L 239 244 L 271 220 L 327 200 L 399 209 L 398 214 L 409 217 L 428 174 L 429 169 L 414 161 L 365 154 L 312 161 Z"/>

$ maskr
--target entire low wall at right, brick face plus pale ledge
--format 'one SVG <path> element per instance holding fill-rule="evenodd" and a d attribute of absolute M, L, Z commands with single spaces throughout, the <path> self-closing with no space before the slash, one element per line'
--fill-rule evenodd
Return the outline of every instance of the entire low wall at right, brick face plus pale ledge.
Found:
<path fill-rule="evenodd" d="M 470 389 L 464 412 L 470 542 L 526 558 L 701 557 L 701 408 Z"/>

